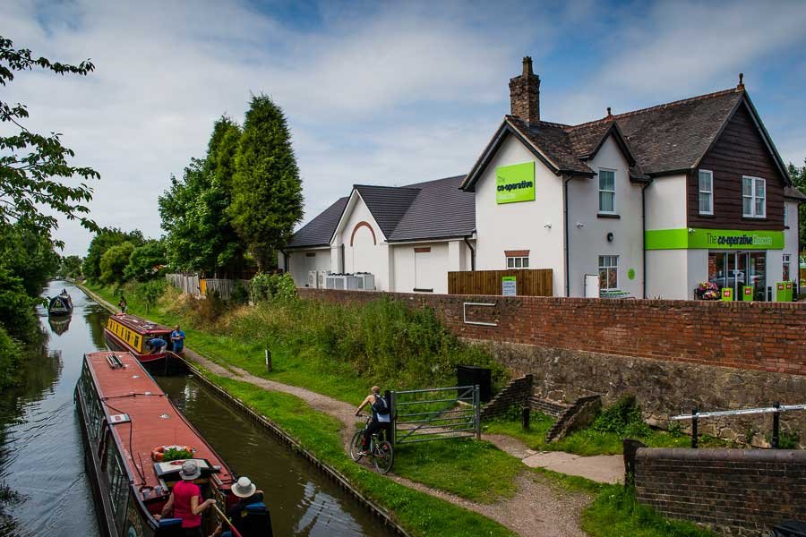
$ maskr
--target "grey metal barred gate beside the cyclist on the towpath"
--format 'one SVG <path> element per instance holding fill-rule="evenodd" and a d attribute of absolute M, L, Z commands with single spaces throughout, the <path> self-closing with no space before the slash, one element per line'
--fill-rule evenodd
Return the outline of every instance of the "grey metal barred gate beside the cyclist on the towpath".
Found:
<path fill-rule="evenodd" d="M 392 391 L 389 400 L 392 444 L 481 439 L 478 385 Z"/>

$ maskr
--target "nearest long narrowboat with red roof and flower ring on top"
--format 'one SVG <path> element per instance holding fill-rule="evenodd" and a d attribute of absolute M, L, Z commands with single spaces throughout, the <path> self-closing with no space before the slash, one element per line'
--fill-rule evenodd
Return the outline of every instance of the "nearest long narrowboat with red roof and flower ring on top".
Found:
<path fill-rule="evenodd" d="M 178 518 L 155 517 L 188 460 L 170 460 L 168 452 L 192 453 L 201 468 L 193 482 L 201 489 L 202 499 L 215 499 L 225 512 L 238 501 L 231 490 L 233 473 L 132 354 L 85 354 L 75 401 L 102 535 L 182 534 Z M 270 535 L 268 510 L 262 504 L 250 507 L 255 506 L 250 516 L 262 522 L 266 531 L 253 534 Z M 205 510 L 203 534 L 210 535 L 219 522 L 216 511 Z"/>

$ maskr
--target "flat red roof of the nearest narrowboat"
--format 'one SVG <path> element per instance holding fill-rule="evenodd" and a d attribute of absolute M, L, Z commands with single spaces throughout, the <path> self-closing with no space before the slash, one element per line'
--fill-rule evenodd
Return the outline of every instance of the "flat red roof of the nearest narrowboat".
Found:
<path fill-rule="evenodd" d="M 123 367 L 112 367 L 110 355 L 116 356 Z M 90 353 L 84 355 L 84 360 L 98 387 L 107 422 L 111 423 L 122 448 L 124 464 L 138 489 L 160 484 L 151 460 L 151 450 L 159 446 L 193 447 L 194 458 L 220 466 L 221 482 L 225 485 L 233 482 L 233 475 L 224 461 L 131 353 Z M 120 419 L 120 414 L 127 414 L 128 421 Z"/>

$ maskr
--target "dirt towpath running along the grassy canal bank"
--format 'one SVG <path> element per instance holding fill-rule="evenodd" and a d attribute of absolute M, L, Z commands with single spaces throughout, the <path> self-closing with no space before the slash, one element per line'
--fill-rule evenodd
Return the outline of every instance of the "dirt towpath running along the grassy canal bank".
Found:
<path fill-rule="evenodd" d="M 88 291 L 85 290 L 85 292 Z M 91 292 L 88 294 L 107 309 L 116 311 L 111 304 L 98 295 Z M 315 410 L 327 413 L 344 424 L 341 436 L 345 449 L 348 450 L 350 437 L 355 430 L 356 406 L 323 396 L 309 389 L 262 379 L 240 368 L 222 367 L 186 346 L 184 347 L 184 357 L 220 377 L 248 382 L 263 389 L 283 392 L 304 399 Z M 527 448 L 518 440 L 504 441 L 507 438 L 509 437 L 485 435 L 485 439 L 489 439 L 504 451 L 523 460 L 527 455 Z M 411 489 L 420 490 L 433 497 L 450 501 L 452 504 L 492 518 L 519 535 L 528 537 L 584 537 L 587 535 L 579 527 L 579 513 L 587 506 L 591 498 L 587 494 L 562 490 L 544 476 L 536 473 L 522 473 L 518 477 L 518 490 L 515 496 L 512 499 L 501 500 L 493 504 L 479 504 L 459 498 L 442 490 L 434 490 L 422 483 L 409 481 L 399 475 L 390 474 L 389 477 Z"/>

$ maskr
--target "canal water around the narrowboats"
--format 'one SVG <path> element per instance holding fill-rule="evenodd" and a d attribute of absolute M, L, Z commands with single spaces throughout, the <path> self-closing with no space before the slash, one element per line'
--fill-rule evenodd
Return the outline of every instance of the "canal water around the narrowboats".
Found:
<path fill-rule="evenodd" d="M 21 388 L 0 393 L 0 535 L 96 535 L 84 473 L 73 388 L 82 354 L 104 349 L 107 312 L 75 286 L 66 288 L 74 311 L 66 324 L 39 308 L 47 343 L 32 354 Z M 360 536 L 387 533 L 379 520 L 303 458 L 234 412 L 189 376 L 158 377 L 159 385 L 231 465 L 265 492 L 276 536 Z M 3 507 L 5 506 L 5 507 Z"/>

